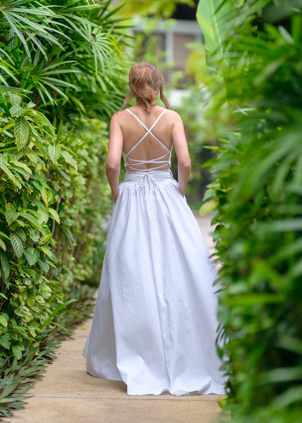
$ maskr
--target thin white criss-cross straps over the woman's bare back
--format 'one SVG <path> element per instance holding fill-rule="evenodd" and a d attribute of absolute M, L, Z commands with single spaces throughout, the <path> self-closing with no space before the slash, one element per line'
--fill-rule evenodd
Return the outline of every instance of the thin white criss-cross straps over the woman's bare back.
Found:
<path fill-rule="evenodd" d="M 161 114 L 158 116 L 158 118 L 156 119 L 156 121 L 154 122 L 154 124 L 151 126 L 151 128 L 147 128 L 147 126 L 145 125 L 145 124 L 143 124 L 143 122 L 133 113 L 133 112 L 131 112 L 131 110 L 129 110 L 129 109 L 126 109 L 129 113 L 131 113 L 131 115 L 133 115 L 134 116 L 134 118 L 136 118 L 136 120 L 141 124 L 141 126 L 143 126 L 144 127 L 144 129 L 146 129 L 146 133 L 145 133 L 145 135 L 143 136 L 143 137 L 141 137 L 141 139 L 128 151 L 128 153 L 127 154 L 125 154 L 123 151 L 122 151 L 122 155 L 123 155 L 123 157 L 124 157 L 124 162 L 125 162 L 125 168 L 126 168 L 126 170 L 127 170 L 127 167 L 129 167 L 129 168 L 131 168 L 131 169 L 133 169 L 134 171 L 136 171 L 136 172 L 141 172 L 141 171 L 151 171 L 151 170 L 155 170 L 155 169 L 159 169 L 159 168 L 163 168 L 163 166 L 165 166 L 167 163 L 169 163 L 169 165 L 171 165 L 171 162 L 170 162 L 170 160 L 171 160 L 171 151 L 172 151 L 172 148 L 169 150 L 169 148 L 167 148 L 166 146 L 165 146 L 165 144 L 163 144 L 157 137 L 155 137 L 155 135 L 151 132 L 152 131 L 152 129 L 154 128 L 154 126 L 158 123 L 158 121 L 160 120 L 160 118 L 162 117 L 162 115 L 165 113 L 165 111 L 167 110 L 167 109 L 163 109 L 163 111 L 161 112 Z M 130 157 L 128 157 L 129 156 L 129 154 L 130 153 L 132 153 L 132 151 L 137 147 L 137 146 L 139 146 L 139 144 L 147 137 L 147 135 L 148 134 L 150 134 L 159 144 L 161 144 L 161 146 L 163 146 L 163 148 L 167 151 L 167 153 L 166 154 L 164 154 L 163 156 L 161 156 L 161 157 L 157 157 L 156 159 L 152 159 L 152 160 L 138 160 L 138 159 L 131 159 Z M 172 146 L 173 147 L 173 146 Z M 164 157 L 166 157 L 167 156 L 167 154 L 169 154 L 169 159 L 168 160 L 161 160 L 161 159 L 163 159 Z M 138 170 L 138 168 L 133 168 L 131 165 L 129 165 L 128 164 L 128 162 L 127 162 L 127 159 L 130 159 L 131 161 L 133 161 L 133 162 L 136 162 L 136 163 L 131 163 L 131 165 L 132 166 L 138 166 L 138 165 L 144 165 L 144 164 L 147 164 L 147 163 L 154 163 L 154 164 L 158 164 L 158 163 L 163 163 L 162 165 L 160 165 L 160 166 L 155 166 L 155 167 L 153 167 L 153 168 L 150 168 L 150 169 L 139 169 Z M 128 171 L 128 170 L 127 170 Z"/>

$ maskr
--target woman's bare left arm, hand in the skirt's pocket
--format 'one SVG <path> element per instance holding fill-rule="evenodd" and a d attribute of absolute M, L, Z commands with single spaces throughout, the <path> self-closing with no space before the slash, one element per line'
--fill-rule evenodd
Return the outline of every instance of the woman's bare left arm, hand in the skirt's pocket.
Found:
<path fill-rule="evenodd" d="M 120 163 L 122 155 L 122 129 L 118 122 L 117 113 L 115 113 L 110 121 L 110 135 L 108 154 L 106 159 L 106 175 L 111 188 L 111 194 L 114 201 L 117 200 L 118 185 L 120 177 Z"/>

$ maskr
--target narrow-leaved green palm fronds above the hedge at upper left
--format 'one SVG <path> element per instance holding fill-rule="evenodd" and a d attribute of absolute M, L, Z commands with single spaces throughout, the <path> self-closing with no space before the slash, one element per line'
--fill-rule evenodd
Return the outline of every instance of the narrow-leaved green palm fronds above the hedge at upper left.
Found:
<path fill-rule="evenodd" d="M 2 88 L 34 93 L 28 107 L 47 106 L 60 118 L 76 113 L 109 119 L 123 95 L 117 39 L 122 44 L 127 27 L 117 25 L 119 8 L 109 12 L 110 5 L 111 0 L 6 0 L 0 21 Z M 13 113 L 20 115 L 18 104 Z M 17 125 L 21 130 L 21 117 Z M 24 125 L 20 146 L 28 132 Z"/>

